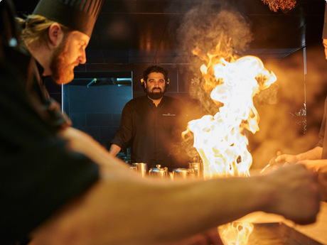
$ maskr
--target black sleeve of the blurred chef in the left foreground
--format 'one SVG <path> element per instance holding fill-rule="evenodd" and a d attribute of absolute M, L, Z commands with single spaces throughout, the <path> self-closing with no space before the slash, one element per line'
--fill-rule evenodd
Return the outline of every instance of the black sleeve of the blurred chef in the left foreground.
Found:
<path fill-rule="evenodd" d="M 31 107 L 23 83 L 0 66 L 0 244 L 24 239 L 99 177 Z"/>

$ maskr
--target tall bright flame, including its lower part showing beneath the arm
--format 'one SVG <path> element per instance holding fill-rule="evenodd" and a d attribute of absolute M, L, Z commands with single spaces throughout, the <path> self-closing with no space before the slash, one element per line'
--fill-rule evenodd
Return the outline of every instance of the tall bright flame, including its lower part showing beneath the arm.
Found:
<path fill-rule="evenodd" d="M 272 85 L 277 77 L 254 56 L 200 55 L 198 49 L 193 53 L 206 62 L 200 67 L 203 88 L 219 107 L 214 116 L 205 115 L 188 123 L 188 131 L 194 135 L 194 147 L 203 160 L 204 178 L 249 176 L 252 156 L 247 134 L 259 130 L 253 97 Z M 225 244 L 247 244 L 253 225 L 241 226 L 242 229 L 240 224 L 230 223 L 220 227 Z M 232 238 L 231 234 L 235 236 Z"/>

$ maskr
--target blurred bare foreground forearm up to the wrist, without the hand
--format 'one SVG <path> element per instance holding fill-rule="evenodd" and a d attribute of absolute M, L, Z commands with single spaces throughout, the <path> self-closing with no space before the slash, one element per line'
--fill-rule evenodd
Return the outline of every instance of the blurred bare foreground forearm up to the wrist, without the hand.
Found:
<path fill-rule="evenodd" d="M 106 175 L 38 229 L 34 244 L 145 245 L 175 241 L 262 209 L 257 180 L 176 185 Z"/>

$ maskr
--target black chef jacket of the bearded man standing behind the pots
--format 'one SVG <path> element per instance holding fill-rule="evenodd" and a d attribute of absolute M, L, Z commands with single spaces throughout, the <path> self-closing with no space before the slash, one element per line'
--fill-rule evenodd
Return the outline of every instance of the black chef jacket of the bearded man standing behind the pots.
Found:
<path fill-rule="evenodd" d="M 181 151 L 181 133 L 186 130 L 186 113 L 179 99 L 164 96 L 158 107 L 147 96 L 136 97 L 125 105 L 122 121 L 112 143 L 131 148 L 132 163 L 187 168 Z"/>

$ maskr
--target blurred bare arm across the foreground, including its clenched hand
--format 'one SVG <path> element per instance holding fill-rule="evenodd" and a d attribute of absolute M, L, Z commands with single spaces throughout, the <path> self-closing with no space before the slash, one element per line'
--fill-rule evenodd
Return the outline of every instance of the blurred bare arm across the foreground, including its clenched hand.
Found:
<path fill-rule="evenodd" d="M 318 185 L 303 165 L 252 178 L 174 183 L 116 171 L 119 163 L 101 165 L 101 180 L 36 229 L 33 245 L 156 244 L 254 211 L 310 223 L 319 208 Z"/>

